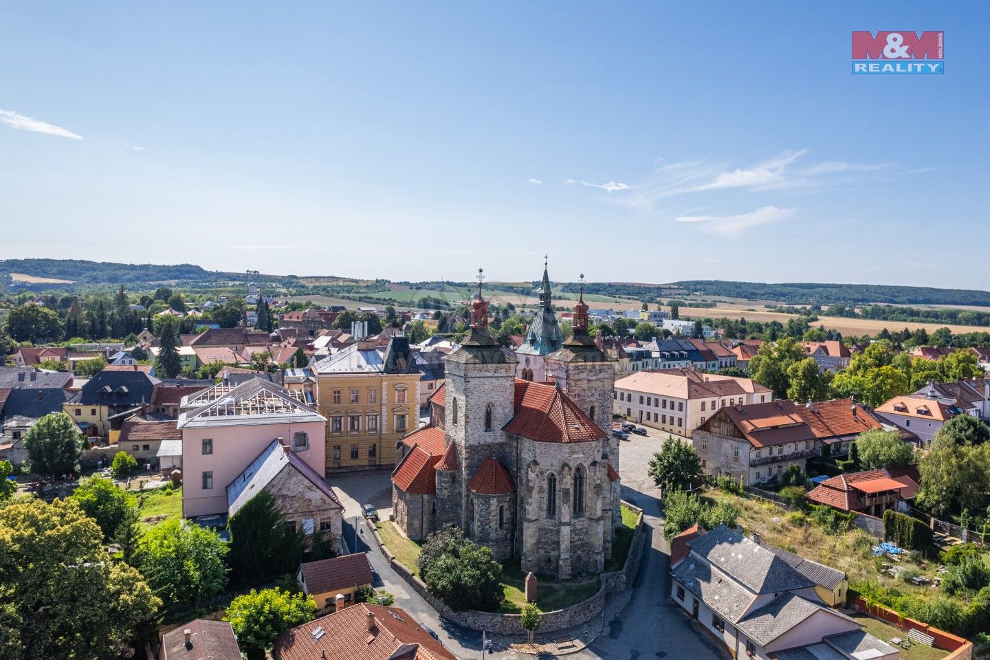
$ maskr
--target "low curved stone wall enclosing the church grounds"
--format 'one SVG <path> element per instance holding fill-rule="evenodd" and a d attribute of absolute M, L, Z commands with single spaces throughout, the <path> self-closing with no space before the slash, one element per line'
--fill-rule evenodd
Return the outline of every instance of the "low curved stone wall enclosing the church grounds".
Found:
<path fill-rule="evenodd" d="M 610 573 L 602 573 L 601 575 L 601 586 L 598 592 L 594 596 L 586 601 L 582 601 L 576 605 L 572 605 L 569 608 L 563 610 L 555 610 L 553 612 L 545 612 L 543 616 L 543 623 L 540 626 L 541 633 L 556 632 L 558 630 L 563 630 L 575 625 L 580 625 L 586 623 L 593 619 L 594 617 L 600 615 L 605 607 L 605 599 L 610 594 L 622 593 L 628 591 L 632 588 L 634 580 L 640 571 L 640 564 L 643 560 L 643 546 L 645 539 L 645 531 L 643 524 L 643 511 L 637 507 L 627 505 L 634 511 L 639 513 L 639 519 L 637 520 L 636 531 L 634 532 L 633 542 L 630 544 L 629 555 L 626 557 L 626 564 L 621 571 L 615 571 Z M 381 536 L 378 534 L 377 529 L 374 525 L 367 523 L 372 534 L 374 535 L 375 542 L 381 548 L 382 553 L 388 560 L 389 564 L 395 569 L 402 578 L 409 584 L 417 594 L 423 597 L 430 606 L 437 611 L 441 616 L 449 621 L 452 621 L 458 625 L 462 625 L 472 630 L 484 630 L 486 632 L 493 632 L 496 634 L 503 635 L 526 635 L 527 631 L 523 628 L 521 623 L 520 614 L 499 614 L 491 612 L 477 612 L 475 610 L 468 610 L 465 612 L 453 612 L 437 597 L 433 596 L 429 590 L 427 590 L 426 584 L 420 580 L 417 576 L 413 575 L 412 571 L 403 566 L 396 558 L 389 552 L 388 548 L 381 540 Z"/>

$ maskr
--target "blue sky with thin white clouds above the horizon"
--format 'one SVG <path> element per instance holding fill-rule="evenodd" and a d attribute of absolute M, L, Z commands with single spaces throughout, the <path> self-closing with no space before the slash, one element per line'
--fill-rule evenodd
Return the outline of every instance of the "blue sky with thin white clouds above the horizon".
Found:
<path fill-rule="evenodd" d="M 944 31 L 945 73 L 852 75 L 853 30 Z M 988 34 L 976 2 L 0 0 L 0 258 L 986 289 Z"/>

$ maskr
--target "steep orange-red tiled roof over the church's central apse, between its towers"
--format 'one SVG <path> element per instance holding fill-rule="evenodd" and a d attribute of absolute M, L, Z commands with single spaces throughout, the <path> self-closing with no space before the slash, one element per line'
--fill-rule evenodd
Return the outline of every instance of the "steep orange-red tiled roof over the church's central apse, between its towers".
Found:
<path fill-rule="evenodd" d="M 521 394 L 522 393 L 522 394 Z M 516 414 L 505 429 L 539 442 L 590 442 L 606 436 L 559 388 L 516 381 Z"/>

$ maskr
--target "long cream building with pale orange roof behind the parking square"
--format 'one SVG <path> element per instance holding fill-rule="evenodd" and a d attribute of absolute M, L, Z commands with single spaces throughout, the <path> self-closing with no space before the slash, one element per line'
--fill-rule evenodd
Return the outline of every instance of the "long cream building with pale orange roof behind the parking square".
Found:
<path fill-rule="evenodd" d="M 616 415 L 684 437 L 726 406 L 773 400 L 769 388 L 749 378 L 693 367 L 638 371 L 616 381 L 612 396 Z"/>

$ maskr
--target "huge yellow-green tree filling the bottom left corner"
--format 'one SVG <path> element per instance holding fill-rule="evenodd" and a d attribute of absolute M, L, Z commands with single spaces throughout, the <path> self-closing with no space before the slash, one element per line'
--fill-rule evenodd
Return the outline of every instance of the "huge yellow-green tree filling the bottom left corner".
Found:
<path fill-rule="evenodd" d="M 129 655 L 160 605 L 138 571 L 110 561 L 75 501 L 0 508 L 0 643 L 17 640 L 3 644 L 6 660 Z"/>

